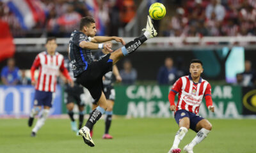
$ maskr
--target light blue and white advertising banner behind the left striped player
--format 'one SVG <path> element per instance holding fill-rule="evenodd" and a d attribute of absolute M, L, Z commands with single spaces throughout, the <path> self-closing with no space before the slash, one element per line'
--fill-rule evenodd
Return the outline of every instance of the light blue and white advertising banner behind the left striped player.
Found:
<path fill-rule="evenodd" d="M 0 117 L 13 115 L 29 115 L 33 107 L 35 87 L 31 85 L 0 86 Z M 61 113 L 61 87 L 56 88 L 54 103 L 51 109 L 52 115 Z"/>

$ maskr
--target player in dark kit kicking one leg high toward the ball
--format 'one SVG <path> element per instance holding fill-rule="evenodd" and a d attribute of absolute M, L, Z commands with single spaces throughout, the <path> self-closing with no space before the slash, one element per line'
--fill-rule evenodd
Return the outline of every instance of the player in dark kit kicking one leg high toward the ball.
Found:
<path fill-rule="evenodd" d="M 147 39 L 157 35 L 149 16 L 147 18 L 145 33 L 126 45 L 122 38 L 116 36 L 95 36 L 96 31 L 95 20 L 92 17 L 83 17 L 81 18 L 79 31 L 74 31 L 69 41 L 70 59 L 74 77 L 77 78 L 79 84 L 88 89 L 92 98 L 98 101 L 99 105 L 92 111 L 85 126 L 79 130 L 84 143 L 91 147 L 94 146 L 94 143 L 90 136 L 90 129 L 92 129 L 92 126 L 108 108 L 106 96 L 103 93 L 102 77 L 111 71 L 112 66 L 122 57 L 132 54 Z M 111 40 L 121 42 L 125 46 L 113 52 L 109 43 L 102 43 Z M 93 61 L 91 50 L 102 48 L 110 54 L 104 56 L 100 61 Z"/>

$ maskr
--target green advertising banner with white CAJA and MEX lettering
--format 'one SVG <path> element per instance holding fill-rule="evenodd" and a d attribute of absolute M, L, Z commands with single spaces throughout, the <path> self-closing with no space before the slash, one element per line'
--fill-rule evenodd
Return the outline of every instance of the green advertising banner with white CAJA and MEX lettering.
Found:
<path fill-rule="evenodd" d="M 169 86 L 130 85 L 117 86 L 114 113 L 127 117 L 172 117 L 169 110 Z M 231 85 L 212 85 L 212 100 L 215 112 L 211 113 L 205 106 L 200 106 L 202 117 L 239 118 L 242 113 L 241 87 Z M 177 97 L 175 98 L 177 100 Z"/>

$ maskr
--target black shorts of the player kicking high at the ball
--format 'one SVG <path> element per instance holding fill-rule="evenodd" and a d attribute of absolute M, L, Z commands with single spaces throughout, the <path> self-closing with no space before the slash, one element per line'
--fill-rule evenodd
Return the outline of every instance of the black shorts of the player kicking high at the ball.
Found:
<path fill-rule="evenodd" d="M 110 54 L 100 61 L 93 61 L 83 73 L 77 76 L 77 82 L 88 89 L 96 102 L 99 101 L 103 91 L 102 77 L 112 71 L 113 61 L 109 59 L 109 56 Z"/>

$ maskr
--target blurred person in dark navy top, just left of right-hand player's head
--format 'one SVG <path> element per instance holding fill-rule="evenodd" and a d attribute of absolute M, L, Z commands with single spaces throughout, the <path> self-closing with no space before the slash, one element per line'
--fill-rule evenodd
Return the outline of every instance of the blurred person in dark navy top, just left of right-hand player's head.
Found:
<path fill-rule="evenodd" d="M 166 57 L 164 66 L 159 68 L 157 82 L 160 85 L 170 85 L 176 81 L 176 77 L 177 68 L 173 66 L 173 59 L 171 57 Z"/>

